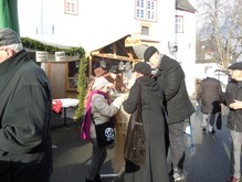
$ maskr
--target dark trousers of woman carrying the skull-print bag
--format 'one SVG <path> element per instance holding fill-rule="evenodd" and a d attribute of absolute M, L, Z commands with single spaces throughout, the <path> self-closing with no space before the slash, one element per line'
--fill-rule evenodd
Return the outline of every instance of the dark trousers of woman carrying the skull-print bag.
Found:
<path fill-rule="evenodd" d="M 90 165 L 87 179 L 94 180 L 96 174 L 99 174 L 101 168 L 107 157 L 106 147 L 99 147 L 97 144 L 97 140 L 92 138 L 93 143 L 93 153 L 92 153 L 92 162 Z"/>

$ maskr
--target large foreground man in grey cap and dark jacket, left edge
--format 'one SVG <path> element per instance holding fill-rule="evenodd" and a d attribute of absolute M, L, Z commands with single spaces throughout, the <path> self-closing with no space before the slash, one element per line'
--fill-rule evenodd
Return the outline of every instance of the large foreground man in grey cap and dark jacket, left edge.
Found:
<path fill-rule="evenodd" d="M 0 181 L 50 182 L 52 92 L 20 36 L 0 29 Z"/>

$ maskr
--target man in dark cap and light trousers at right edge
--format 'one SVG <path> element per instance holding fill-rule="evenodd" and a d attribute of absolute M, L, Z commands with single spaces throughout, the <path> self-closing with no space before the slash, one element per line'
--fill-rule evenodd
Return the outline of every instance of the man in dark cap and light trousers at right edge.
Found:
<path fill-rule="evenodd" d="M 230 108 L 227 127 L 230 129 L 231 178 L 229 182 L 239 182 L 241 178 L 241 144 L 242 144 L 242 62 L 229 66 L 230 78 L 225 90 L 227 106 Z"/>

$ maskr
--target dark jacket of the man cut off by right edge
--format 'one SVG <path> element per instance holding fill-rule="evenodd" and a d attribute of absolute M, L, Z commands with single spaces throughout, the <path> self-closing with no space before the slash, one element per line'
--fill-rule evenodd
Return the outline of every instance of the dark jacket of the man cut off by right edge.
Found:
<path fill-rule="evenodd" d="M 225 95 L 227 106 L 230 106 L 234 99 L 242 100 L 242 82 L 230 81 Z M 230 108 L 227 127 L 231 130 L 242 132 L 242 109 Z"/>

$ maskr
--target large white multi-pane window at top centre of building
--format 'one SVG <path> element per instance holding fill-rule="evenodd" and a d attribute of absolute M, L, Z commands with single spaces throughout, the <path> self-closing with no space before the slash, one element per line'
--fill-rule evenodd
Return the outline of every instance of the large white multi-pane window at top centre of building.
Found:
<path fill-rule="evenodd" d="M 156 0 L 136 0 L 136 19 L 156 21 Z"/>

